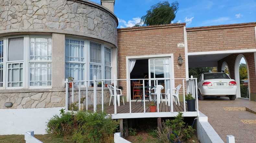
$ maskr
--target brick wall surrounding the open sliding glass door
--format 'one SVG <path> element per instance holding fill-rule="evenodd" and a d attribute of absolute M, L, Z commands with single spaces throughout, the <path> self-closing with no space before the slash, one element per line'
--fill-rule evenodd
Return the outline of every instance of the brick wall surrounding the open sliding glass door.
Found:
<path fill-rule="evenodd" d="M 185 78 L 184 48 L 177 48 L 177 43 L 184 42 L 185 24 L 168 24 L 146 27 L 118 29 L 118 62 L 119 79 L 126 79 L 126 56 L 174 54 L 174 76 Z M 178 57 L 181 54 L 183 64 L 178 66 Z M 175 81 L 176 85 L 182 81 Z M 119 82 L 126 94 L 126 82 Z"/>

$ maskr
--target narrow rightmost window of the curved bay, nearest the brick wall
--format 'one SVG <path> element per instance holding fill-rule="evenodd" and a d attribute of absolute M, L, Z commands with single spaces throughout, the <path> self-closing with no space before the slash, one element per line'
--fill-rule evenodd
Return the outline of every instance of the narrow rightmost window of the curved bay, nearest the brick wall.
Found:
<path fill-rule="evenodd" d="M 105 47 L 105 79 L 111 79 L 111 49 Z M 111 81 L 105 81 L 105 84 L 111 84 Z"/>

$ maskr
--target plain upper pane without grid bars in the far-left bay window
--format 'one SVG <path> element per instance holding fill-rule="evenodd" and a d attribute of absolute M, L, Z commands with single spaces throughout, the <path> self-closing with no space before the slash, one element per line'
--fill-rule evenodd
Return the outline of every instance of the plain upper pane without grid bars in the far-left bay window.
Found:
<path fill-rule="evenodd" d="M 8 61 L 23 60 L 24 39 L 23 37 L 8 39 Z"/>

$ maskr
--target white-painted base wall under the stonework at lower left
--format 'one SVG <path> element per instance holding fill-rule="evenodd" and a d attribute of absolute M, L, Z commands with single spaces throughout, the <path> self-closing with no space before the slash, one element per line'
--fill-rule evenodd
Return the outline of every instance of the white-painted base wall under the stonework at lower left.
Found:
<path fill-rule="evenodd" d="M 28 130 L 45 134 L 46 122 L 62 108 L 0 109 L 0 135 L 24 135 Z"/>

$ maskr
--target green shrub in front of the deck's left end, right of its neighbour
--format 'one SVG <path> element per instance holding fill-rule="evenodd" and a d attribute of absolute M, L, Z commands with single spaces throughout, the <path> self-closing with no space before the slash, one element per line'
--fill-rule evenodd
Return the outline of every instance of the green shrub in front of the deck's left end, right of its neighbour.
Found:
<path fill-rule="evenodd" d="M 73 133 L 74 142 L 113 142 L 118 121 L 105 113 L 77 112 L 78 128 Z"/>

